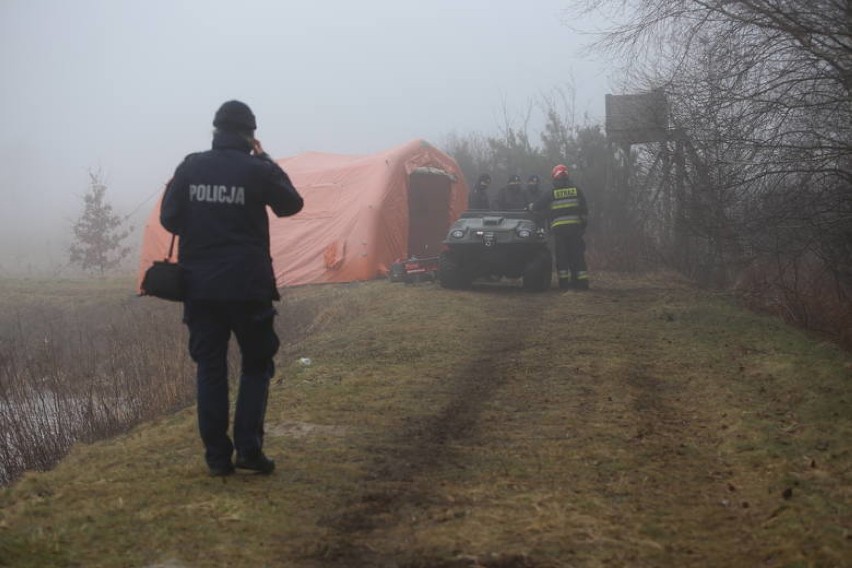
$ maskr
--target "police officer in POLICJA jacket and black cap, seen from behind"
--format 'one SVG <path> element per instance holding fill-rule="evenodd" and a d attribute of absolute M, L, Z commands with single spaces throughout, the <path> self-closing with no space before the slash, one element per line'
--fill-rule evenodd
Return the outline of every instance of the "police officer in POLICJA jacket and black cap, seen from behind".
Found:
<path fill-rule="evenodd" d="M 230 475 L 235 467 L 269 474 L 275 462 L 263 453 L 263 422 L 279 346 L 272 301 L 280 298 L 266 209 L 284 217 L 298 213 L 303 202 L 254 138 L 257 123 L 245 103 L 224 103 L 213 126 L 212 149 L 190 154 L 175 170 L 160 222 L 179 237 L 184 322 L 197 365 L 198 428 L 210 474 Z M 231 333 L 241 355 L 233 441 L 228 435 Z"/>

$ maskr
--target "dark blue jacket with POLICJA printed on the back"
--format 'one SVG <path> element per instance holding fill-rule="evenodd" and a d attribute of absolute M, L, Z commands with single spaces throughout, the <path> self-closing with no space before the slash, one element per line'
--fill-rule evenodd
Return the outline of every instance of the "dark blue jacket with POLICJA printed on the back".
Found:
<path fill-rule="evenodd" d="M 252 155 L 245 138 L 217 131 L 211 150 L 177 167 L 160 208 L 160 223 L 180 237 L 186 299 L 278 299 L 266 208 L 285 217 L 302 205 L 268 155 Z"/>

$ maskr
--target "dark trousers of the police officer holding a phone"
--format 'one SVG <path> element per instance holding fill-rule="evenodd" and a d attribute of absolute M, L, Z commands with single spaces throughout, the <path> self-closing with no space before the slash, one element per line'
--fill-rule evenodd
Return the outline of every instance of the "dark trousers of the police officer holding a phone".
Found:
<path fill-rule="evenodd" d="M 187 300 L 184 322 L 189 328 L 189 354 L 197 365 L 198 429 L 211 467 L 231 463 L 237 455 L 251 458 L 263 449 L 263 421 L 273 357 L 279 341 L 271 302 Z M 234 412 L 234 440 L 228 436 L 228 342 L 237 338 L 241 373 Z"/>

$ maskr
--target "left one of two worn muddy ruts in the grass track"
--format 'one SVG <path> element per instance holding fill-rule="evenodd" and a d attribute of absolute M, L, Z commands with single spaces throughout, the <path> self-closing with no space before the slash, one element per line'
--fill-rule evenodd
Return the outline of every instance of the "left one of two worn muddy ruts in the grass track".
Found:
<path fill-rule="evenodd" d="M 469 358 L 459 362 L 449 376 L 441 377 L 440 385 L 433 382 L 427 391 L 411 393 L 409 418 L 373 440 L 373 463 L 364 475 L 363 492 L 341 503 L 324 520 L 334 536 L 323 547 L 321 565 L 404 566 L 406 561 L 400 563 L 399 559 L 407 556 L 412 566 L 444 565 L 445 560 L 424 558 L 422 551 L 410 555 L 409 544 L 383 550 L 364 543 L 385 541 L 386 533 L 410 524 L 412 510 L 441 505 L 429 480 L 440 478 L 446 469 L 465 469 L 459 444 L 480 444 L 481 414 L 513 379 L 515 362 L 524 348 L 519 338 L 536 332 L 549 305 L 543 296 L 531 297 L 518 290 L 479 293 L 494 298 L 480 314 L 483 321 L 493 324 L 485 326 L 487 336 L 466 337 L 471 346 Z M 444 398 L 440 405 L 435 405 L 436 387 Z M 526 566 L 512 558 L 498 558 L 490 565 Z"/>

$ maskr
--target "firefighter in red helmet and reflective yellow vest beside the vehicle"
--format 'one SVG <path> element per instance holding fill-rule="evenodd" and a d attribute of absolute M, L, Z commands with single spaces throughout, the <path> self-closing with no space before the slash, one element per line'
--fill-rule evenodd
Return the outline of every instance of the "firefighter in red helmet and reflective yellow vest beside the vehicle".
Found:
<path fill-rule="evenodd" d="M 556 271 L 559 287 L 589 289 L 586 267 L 586 243 L 583 233 L 589 210 L 583 192 L 571 182 L 568 168 L 562 164 L 551 173 L 553 189 L 542 194 L 530 208 L 547 211 L 556 245 Z"/>

